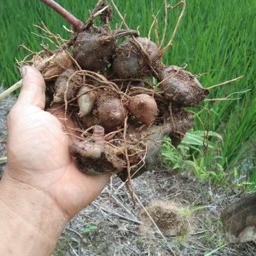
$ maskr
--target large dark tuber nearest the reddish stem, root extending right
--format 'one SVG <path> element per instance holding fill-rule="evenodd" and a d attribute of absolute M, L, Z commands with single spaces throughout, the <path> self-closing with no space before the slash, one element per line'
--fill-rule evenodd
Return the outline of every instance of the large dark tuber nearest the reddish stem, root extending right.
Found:
<path fill-rule="evenodd" d="M 131 34 L 138 36 L 135 30 L 114 31 L 111 35 L 99 28 L 83 31 L 73 44 L 73 57 L 83 69 L 102 71 L 111 60 L 117 39 Z"/>

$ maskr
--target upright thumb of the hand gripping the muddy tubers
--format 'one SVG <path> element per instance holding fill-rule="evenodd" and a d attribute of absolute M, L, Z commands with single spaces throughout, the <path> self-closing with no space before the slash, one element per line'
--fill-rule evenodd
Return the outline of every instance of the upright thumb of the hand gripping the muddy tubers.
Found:
<path fill-rule="evenodd" d="M 32 66 L 22 66 L 22 88 L 17 104 L 45 108 L 45 81 L 41 73 Z"/>

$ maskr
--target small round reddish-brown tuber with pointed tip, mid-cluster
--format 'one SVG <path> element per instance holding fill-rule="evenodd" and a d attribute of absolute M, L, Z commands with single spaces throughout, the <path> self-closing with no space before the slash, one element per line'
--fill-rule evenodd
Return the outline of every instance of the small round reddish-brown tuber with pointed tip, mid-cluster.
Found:
<path fill-rule="evenodd" d="M 130 99 L 129 111 L 138 121 L 149 125 L 157 115 L 157 103 L 148 94 L 138 94 Z"/>

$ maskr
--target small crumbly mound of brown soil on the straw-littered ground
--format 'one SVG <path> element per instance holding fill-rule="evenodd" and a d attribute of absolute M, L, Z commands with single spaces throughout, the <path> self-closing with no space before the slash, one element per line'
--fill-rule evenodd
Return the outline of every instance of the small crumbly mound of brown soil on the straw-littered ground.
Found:
<path fill-rule="evenodd" d="M 170 201 L 153 200 L 145 209 L 154 220 L 157 227 L 160 229 L 164 236 L 180 236 L 187 230 L 187 220 L 177 211 L 178 206 Z M 152 221 L 143 209 L 138 213 L 141 218 L 143 227 L 149 229 L 154 227 Z"/>

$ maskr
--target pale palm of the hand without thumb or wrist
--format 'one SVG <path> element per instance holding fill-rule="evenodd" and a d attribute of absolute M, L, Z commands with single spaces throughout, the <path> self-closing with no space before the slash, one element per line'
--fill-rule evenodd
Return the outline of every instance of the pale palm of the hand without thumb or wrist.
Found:
<path fill-rule="evenodd" d="M 69 129 L 67 134 L 59 122 L 64 118 L 63 110 L 55 112 L 59 120 L 37 106 L 23 108 L 22 113 L 15 117 L 17 126 L 9 129 L 8 143 L 16 145 L 15 150 L 8 150 L 9 166 L 14 159 L 23 176 L 20 179 L 50 194 L 69 215 L 76 214 L 101 192 L 106 176 L 87 176 L 78 170 L 69 152 L 76 138 L 69 134 L 75 132 Z"/>

